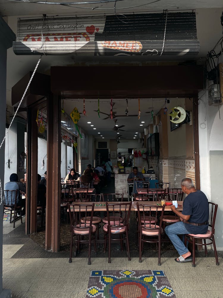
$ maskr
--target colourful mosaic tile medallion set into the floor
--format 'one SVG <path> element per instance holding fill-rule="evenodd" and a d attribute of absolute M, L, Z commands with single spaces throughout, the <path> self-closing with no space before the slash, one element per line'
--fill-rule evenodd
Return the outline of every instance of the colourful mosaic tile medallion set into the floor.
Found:
<path fill-rule="evenodd" d="M 176 298 L 164 271 L 91 271 L 86 298 Z"/>

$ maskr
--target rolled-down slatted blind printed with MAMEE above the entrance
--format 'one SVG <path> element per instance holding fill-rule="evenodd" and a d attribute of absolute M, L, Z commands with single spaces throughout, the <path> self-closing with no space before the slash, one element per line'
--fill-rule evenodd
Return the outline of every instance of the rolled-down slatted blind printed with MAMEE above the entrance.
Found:
<path fill-rule="evenodd" d="M 121 17 L 121 16 L 120 16 Z M 200 50 L 194 12 L 19 19 L 18 55 L 194 55 Z M 164 41 L 164 30 L 166 36 Z"/>

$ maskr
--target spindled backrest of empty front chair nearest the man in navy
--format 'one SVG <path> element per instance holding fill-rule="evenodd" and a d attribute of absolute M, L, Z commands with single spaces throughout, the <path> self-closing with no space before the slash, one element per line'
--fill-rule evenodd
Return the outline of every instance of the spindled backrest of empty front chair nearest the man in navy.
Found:
<path fill-rule="evenodd" d="M 143 203 L 136 202 L 136 206 L 137 206 L 138 218 L 141 218 L 141 222 L 140 220 L 138 220 L 139 226 L 141 228 L 143 227 L 145 229 L 151 229 L 151 230 L 158 229 L 161 232 L 165 204 L 163 206 L 154 206 L 154 205 L 144 205 Z M 160 214 L 160 211 L 161 211 L 161 214 Z M 145 217 L 146 218 L 149 217 L 153 219 L 151 219 L 151 222 L 148 223 L 148 220 L 145 220 Z"/>

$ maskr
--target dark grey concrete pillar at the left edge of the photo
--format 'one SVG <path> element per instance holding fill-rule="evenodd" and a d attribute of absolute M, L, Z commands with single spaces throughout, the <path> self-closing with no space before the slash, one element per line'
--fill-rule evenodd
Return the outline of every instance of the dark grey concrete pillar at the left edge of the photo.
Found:
<path fill-rule="evenodd" d="M 6 123 L 6 60 L 7 49 L 12 47 L 12 41 L 15 41 L 15 34 L 10 27 L 6 24 L 3 18 L 0 17 L 0 94 L 1 94 L 1 106 L 0 109 L 0 143 L 5 135 L 5 123 Z M 4 162 L 5 162 L 5 146 L 0 149 L 0 178 L 1 185 L 4 190 Z M 3 243 L 3 198 L 0 199 L 0 260 L 2 260 L 2 243 Z M 2 264 L 2 263 L 1 263 Z M 11 291 L 2 289 L 2 265 L 0 266 L 0 297 L 11 297 Z"/>

